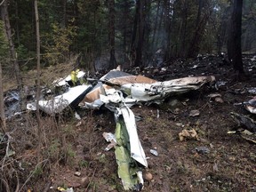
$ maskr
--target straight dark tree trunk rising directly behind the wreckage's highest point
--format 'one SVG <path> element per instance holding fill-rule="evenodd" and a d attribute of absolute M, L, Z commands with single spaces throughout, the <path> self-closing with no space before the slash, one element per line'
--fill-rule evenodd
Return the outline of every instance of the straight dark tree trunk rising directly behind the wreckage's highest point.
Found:
<path fill-rule="evenodd" d="M 110 60 L 109 69 L 116 68 L 115 56 L 115 0 L 108 0 L 109 10 L 109 43 L 110 43 Z"/>

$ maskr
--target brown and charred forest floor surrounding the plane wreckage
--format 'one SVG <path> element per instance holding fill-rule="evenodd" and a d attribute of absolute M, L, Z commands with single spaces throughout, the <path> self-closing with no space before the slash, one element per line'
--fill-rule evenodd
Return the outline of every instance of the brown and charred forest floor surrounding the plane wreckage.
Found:
<path fill-rule="evenodd" d="M 204 88 L 168 98 L 159 106 L 132 108 L 134 115 L 141 117 L 138 134 L 148 156 L 144 174 L 152 176 L 145 180 L 144 191 L 256 191 L 256 145 L 239 134 L 227 133 L 238 127 L 230 112 L 256 119 L 243 106 L 234 105 L 253 97 L 248 90 L 256 87 L 256 61 L 251 59 L 252 55 L 244 56 L 248 78 L 242 81 L 237 81 L 232 66 L 211 55 L 177 60 L 164 73 L 148 73 L 160 81 L 211 75 L 220 86 L 218 90 Z M 220 93 L 223 102 L 211 100 L 207 97 L 210 93 Z M 195 109 L 200 115 L 189 116 Z M 114 149 L 105 151 L 108 142 L 102 137 L 103 132 L 115 132 L 113 114 L 107 109 L 84 113 L 83 124 L 76 125 L 78 120 L 65 117 L 57 129 L 44 117 L 46 144 L 41 148 L 40 161 L 36 128 L 29 126 L 36 117 L 12 121 L 9 126 L 16 127 L 12 132 L 14 158 L 19 162 L 13 166 L 19 170 L 20 191 L 57 191 L 58 187 L 77 192 L 124 190 L 117 176 Z M 179 133 L 184 129 L 195 129 L 198 139 L 180 141 Z M 200 147 L 207 152 L 198 153 L 196 148 Z M 150 149 L 156 149 L 158 156 Z"/>

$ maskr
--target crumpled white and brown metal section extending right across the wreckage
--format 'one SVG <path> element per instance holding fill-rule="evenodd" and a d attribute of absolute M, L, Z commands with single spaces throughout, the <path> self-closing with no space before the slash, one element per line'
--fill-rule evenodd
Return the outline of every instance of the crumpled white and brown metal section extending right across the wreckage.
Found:
<path fill-rule="evenodd" d="M 214 83 L 214 76 L 194 76 L 157 82 L 145 76 L 132 76 L 118 70 L 111 70 L 100 78 L 100 82 L 89 92 L 79 104 L 84 108 L 100 108 L 100 94 L 106 95 L 106 90 L 115 88 L 124 92 L 125 99 L 130 99 L 130 105 L 140 101 L 161 101 L 174 94 L 198 90 L 206 83 Z M 109 97 L 109 94 L 108 94 Z M 132 99 L 132 100 L 131 100 Z M 90 103 L 91 102 L 91 103 Z M 97 106 L 99 104 L 99 106 Z"/>

